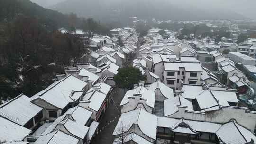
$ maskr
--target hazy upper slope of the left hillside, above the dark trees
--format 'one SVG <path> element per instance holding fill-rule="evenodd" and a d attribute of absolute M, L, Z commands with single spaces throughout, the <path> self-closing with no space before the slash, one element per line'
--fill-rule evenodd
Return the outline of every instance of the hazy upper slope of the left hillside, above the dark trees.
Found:
<path fill-rule="evenodd" d="M 37 18 L 47 29 L 53 30 L 56 26 L 68 27 L 68 18 L 62 13 L 45 9 L 29 0 L 0 0 L 0 21 L 10 21 L 17 15 Z"/>

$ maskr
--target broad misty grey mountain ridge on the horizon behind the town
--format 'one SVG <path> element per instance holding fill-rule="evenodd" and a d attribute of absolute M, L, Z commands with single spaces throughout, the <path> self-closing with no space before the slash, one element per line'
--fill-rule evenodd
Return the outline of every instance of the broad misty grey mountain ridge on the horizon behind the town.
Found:
<path fill-rule="evenodd" d="M 66 0 L 50 7 L 62 13 L 76 13 L 78 16 L 99 20 L 152 17 L 160 20 L 216 20 L 247 19 L 229 10 L 200 9 L 191 6 L 184 9 L 170 0 Z"/>

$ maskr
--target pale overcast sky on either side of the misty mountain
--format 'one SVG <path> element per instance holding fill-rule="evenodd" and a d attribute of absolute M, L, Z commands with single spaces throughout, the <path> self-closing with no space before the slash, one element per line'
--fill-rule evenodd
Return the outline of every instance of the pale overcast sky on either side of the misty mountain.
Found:
<path fill-rule="evenodd" d="M 65 0 L 31 0 L 43 7 L 50 7 Z M 115 1 L 115 0 L 111 0 Z M 119 1 L 119 0 L 118 0 Z M 189 9 L 226 9 L 237 12 L 247 18 L 256 19 L 256 0 L 170 0 L 177 7 Z"/>

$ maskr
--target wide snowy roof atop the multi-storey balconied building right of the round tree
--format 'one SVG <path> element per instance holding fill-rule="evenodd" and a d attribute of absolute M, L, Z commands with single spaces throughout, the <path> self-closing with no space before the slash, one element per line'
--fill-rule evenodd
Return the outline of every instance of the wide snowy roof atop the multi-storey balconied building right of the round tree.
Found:
<path fill-rule="evenodd" d="M 164 63 L 165 71 L 180 71 L 185 68 L 187 72 L 202 72 L 200 63 Z"/>

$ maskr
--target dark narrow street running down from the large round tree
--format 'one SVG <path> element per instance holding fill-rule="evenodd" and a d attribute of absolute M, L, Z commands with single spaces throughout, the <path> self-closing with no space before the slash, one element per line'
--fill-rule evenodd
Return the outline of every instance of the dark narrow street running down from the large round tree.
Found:
<path fill-rule="evenodd" d="M 121 103 L 121 100 L 123 99 L 124 94 L 125 93 L 123 89 L 115 88 L 112 91 L 111 96 L 113 97 L 114 103 L 116 105 L 110 103 L 110 106 L 107 109 L 99 125 L 99 130 L 101 130 L 103 127 L 104 129 L 101 132 L 98 131 L 98 135 L 94 137 L 92 144 L 112 144 L 113 143 L 114 139 L 112 137 L 112 133 L 119 120 L 119 116 L 120 116 L 119 112 L 121 112 L 119 104 Z M 118 107 L 119 111 L 116 108 L 116 106 Z M 113 120 L 114 122 L 110 123 L 110 121 L 113 121 Z"/>

